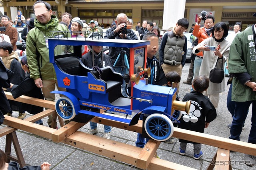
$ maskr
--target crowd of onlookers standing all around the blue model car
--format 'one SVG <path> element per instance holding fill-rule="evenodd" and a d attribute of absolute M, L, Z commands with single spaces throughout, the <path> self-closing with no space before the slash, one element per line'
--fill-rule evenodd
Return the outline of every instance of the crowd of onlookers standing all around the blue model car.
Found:
<path fill-rule="evenodd" d="M 108 29 L 103 34 L 102 28 L 97 21 L 91 20 L 87 25 L 85 20 L 80 20 L 78 17 L 72 18 L 71 14 L 67 12 L 62 14 L 62 21 L 59 22 L 59 19 L 52 15 L 50 4 L 42 0 L 34 3 L 33 11 L 36 18 L 28 18 L 26 21 L 22 13 L 20 11 L 17 12 L 16 25 L 19 27 L 26 25 L 26 29 L 22 31 L 22 39 L 26 42 L 26 56 L 22 56 L 20 59 L 15 52 L 18 37 L 17 30 L 13 27 L 15 23 L 10 21 L 10 18 L 6 15 L 0 18 L 1 24 L 6 27 L 6 31 L 3 32 L 5 36 L 1 35 L 0 39 L 2 41 L 0 42 L 0 66 L 1 69 L 5 69 L 10 77 L 8 79 L 10 81 L 9 84 L 2 84 L 2 82 L 0 84 L 4 88 L 1 88 L 0 99 L 6 103 L 6 107 L 0 107 L 2 115 L 12 116 L 12 111 L 15 110 L 19 111 L 18 118 L 24 119 L 26 117 L 25 111 L 30 114 L 36 114 L 43 110 L 42 107 L 32 107 L 30 105 L 25 107 L 20 102 L 7 101 L 2 90 L 11 92 L 14 98 L 26 95 L 48 101 L 55 100 L 55 94 L 50 93 L 55 88 L 60 91 L 66 90 L 58 87 L 54 67 L 49 61 L 48 38 L 54 36 L 84 37 L 85 35 L 82 31 L 87 27 L 86 31 L 98 33 L 97 36 L 101 36 L 101 38 L 150 41 L 146 51 L 147 66 L 152 68 L 149 84 L 176 87 L 176 100 L 180 100 L 178 97 L 179 82 L 187 53 L 187 38 L 183 33 L 189 27 L 189 22 L 186 18 L 178 20 L 173 29 L 165 33 L 161 39 L 160 29 L 156 26 L 156 22 L 148 22 L 146 20 L 142 21 L 142 25 L 137 22 L 136 30 L 127 29 L 127 32 L 122 32 L 121 30 L 125 25 L 133 25 L 132 19 L 129 19 L 126 14 L 118 14 L 116 20 L 109 26 L 111 29 Z M 256 13 L 254 16 L 256 16 Z M 202 22 L 204 27 L 201 27 Z M 224 22 L 214 22 L 215 19 L 212 15 L 207 15 L 204 21 L 202 21 L 201 16 L 198 16 L 197 22 L 193 23 L 190 29 L 190 32 L 197 37 L 193 48 L 195 58 L 190 64 L 192 76 L 190 75 L 191 78 L 183 83 L 191 84 L 192 87 L 191 92 L 186 94 L 182 101 L 191 100 L 190 110 L 198 110 L 198 113 L 196 113 L 196 119 L 190 119 L 186 114 L 182 114 L 178 127 L 204 133 L 204 128 L 207 128 L 209 123 L 216 118 L 216 108 L 218 108 L 220 93 L 224 91 L 225 82 L 224 80 L 221 83 L 211 82 L 209 76 L 215 66 L 218 68 L 223 67 L 228 59 L 228 70 L 232 85 L 228 92 L 227 106 L 233 118 L 232 123 L 228 125 L 230 139 L 240 140 L 244 121 L 248 114 L 249 106 L 252 104 L 252 127 L 248 143 L 256 144 L 256 24 L 240 32 L 241 25 L 237 23 L 234 26 L 236 34 L 228 41 L 226 40 L 228 35 L 227 25 Z M 212 49 L 209 46 L 216 48 Z M 72 51 L 72 47 L 56 49 L 58 54 L 65 53 L 65 51 Z M 110 66 L 121 74 L 129 72 L 129 69 L 118 60 L 118 55 L 126 51 L 126 57 L 129 61 L 129 49 L 125 47 L 110 47 L 108 55 L 101 53 L 101 51 L 102 47 L 99 46 L 83 46 L 82 63 L 91 68 L 93 66 L 98 66 L 99 68 Z M 92 55 L 94 55 L 94 62 L 92 61 Z M 102 61 L 101 55 L 104 55 L 104 61 Z M 125 82 L 122 85 L 122 94 L 127 96 L 124 87 Z M 2 117 L 0 115 L 0 120 L 3 119 Z M 52 116 L 49 115 L 48 117 L 48 126 L 57 128 L 56 125 L 52 125 Z M 35 123 L 43 125 L 42 120 L 38 120 Z M 90 122 L 90 127 L 89 133 L 98 133 L 97 123 Z M 111 127 L 105 125 L 103 137 L 110 139 L 110 133 Z M 138 133 L 136 146 L 143 148 L 147 141 L 148 139 Z M 166 143 L 173 143 L 173 141 L 173 138 L 170 138 Z M 180 155 L 185 154 L 187 143 L 193 143 L 193 158 L 198 160 L 202 157 L 203 152 L 200 143 L 182 139 L 179 139 L 179 141 Z M 245 155 L 245 160 L 249 166 L 255 164 L 255 156 Z"/>

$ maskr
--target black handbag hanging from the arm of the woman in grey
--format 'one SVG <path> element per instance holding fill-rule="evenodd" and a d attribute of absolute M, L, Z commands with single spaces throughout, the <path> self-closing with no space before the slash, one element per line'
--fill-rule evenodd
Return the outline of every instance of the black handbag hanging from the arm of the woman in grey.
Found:
<path fill-rule="evenodd" d="M 215 64 L 215 67 L 210 71 L 209 80 L 213 83 L 221 83 L 224 79 L 224 70 L 223 70 L 223 57 L 221 68 L 216 68 L 218 64 L 218 60 Z"/>

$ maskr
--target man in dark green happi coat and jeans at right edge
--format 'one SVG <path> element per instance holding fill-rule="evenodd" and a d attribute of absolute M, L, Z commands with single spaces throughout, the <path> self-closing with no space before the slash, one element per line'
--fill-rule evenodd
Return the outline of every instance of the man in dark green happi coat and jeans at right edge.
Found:
<path fill-rule="evenodd" d="M 256 17 L 256 13 L 254 14 Z M 232 101 L 234 116 L 230 139 L 240 141 L 242 125 L 252 104 L 252 127 L 248 143 L 256 144 L 256 24 L 238 33 L 230 46 L 228 72 L 233 75 Z M 245 164 L 254 166 L 256 156 L 246 154 Z"/>

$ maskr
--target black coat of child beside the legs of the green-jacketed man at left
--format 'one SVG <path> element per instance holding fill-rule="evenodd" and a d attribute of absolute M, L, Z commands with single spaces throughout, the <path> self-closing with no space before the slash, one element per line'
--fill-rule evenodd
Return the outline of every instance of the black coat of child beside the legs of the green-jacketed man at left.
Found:
<path fill-rule="evenodd" d="M 14 99 L 20 97 L 21 95 L 29 96 L 32 98 L 44 99 L 41 88 L 38 88 L 34 83 L 34 80 L 30 78 L 30 74 L 27 73 L 23 81 L 18 85 L 13 85 L 11 90 Z M 44 111 L 43 107 L 34 106 L 30 104 L 23 103 L 22 108 L 30 114 L 36 114 Z"/>

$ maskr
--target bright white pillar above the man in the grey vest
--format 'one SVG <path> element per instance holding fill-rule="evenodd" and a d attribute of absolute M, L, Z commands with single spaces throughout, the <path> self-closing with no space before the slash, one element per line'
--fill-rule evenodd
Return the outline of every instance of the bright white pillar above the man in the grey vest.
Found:
<path fill-rule="evenodd" d="M 172 29 L 184 18 L 186 0 L 164 0 L 163 30 Z"/>

